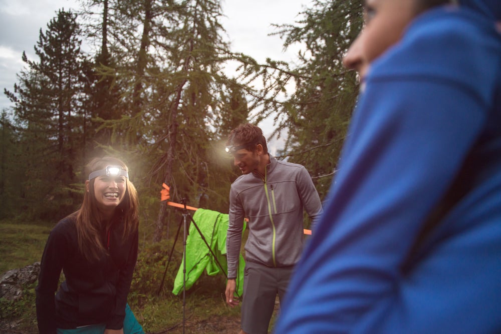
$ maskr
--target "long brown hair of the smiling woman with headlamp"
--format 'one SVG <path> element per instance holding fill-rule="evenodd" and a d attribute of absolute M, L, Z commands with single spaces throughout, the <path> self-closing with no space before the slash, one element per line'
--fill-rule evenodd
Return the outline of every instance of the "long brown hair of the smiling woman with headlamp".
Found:
<path fill-rule="evenodd" d="M 114 157 L 94 158 L 85 168 L 85 175 L 88 176 L 91 172 L 104 169 L 109 165 L 119 165 L 128 171 L 125 163 Z M 84 192 L 84 200 L 77 215 L 77 234 L 78 248 L 89 260 L 99 260 L 103 254 L 107 253 L 106 247 L 102 240 L 102 224 L 99 211 L 97 208 L 97 200 L 94 195 L 94 180 L 89 181 L 89 191 Z M 128 178 L 125 179 L 126 192 L 122 202 L 115 208 L 114 221 L 117 215 L 122 216 L 124 224 L 122 238 L 125 240 L 129 234 L 137 230 L 139 225 L 139 200 L 137 191 L 132 182 Z M 108 228 L 109 226 L 107 226 Z"/>

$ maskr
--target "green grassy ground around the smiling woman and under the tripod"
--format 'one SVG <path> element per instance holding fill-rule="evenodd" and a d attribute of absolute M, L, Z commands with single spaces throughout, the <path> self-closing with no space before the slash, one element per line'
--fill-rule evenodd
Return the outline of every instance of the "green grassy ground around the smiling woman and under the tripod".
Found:
<path fill-rule="evenodd" d="M 54 223 L 19 223 L 0 220 L 0 275 L 40 261 L 45 242 Z M 186 291 L 183 321 L 183 297 L 171 290 L 182 259 L 182 242 L 175 250 L 158 291 L 173 240 L 141 245 L 134 272 L 129 304 L 147 333 L 237 333 L 240 308 L 229 308 L 223 298 L 225 277 L 205 273 Z M 0 332 L 37 333 L 35 310 L 36 282 L 24 287 L 18 301 L 0 298 Z M 159 292 L 159 293 L 158 293 Z"/>

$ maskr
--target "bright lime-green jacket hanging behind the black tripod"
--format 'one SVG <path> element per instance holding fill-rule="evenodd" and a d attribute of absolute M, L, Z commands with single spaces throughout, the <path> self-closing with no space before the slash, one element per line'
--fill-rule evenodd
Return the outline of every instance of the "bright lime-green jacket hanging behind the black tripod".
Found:
<path fill-rule="evenodd" d="M 217 257 L 219 264 L 227 274 L 226 262 L 226 231 L 228 229 L 228 215 L 207 209 L 197 209 L 193 214 L 193 221 L 196 223 L 205 240 L 210 245 L 210 249 Z M 245 230 L 245 222 L 243 225 Z M 245 261 L 242 254 L 239 258 L 238 277 L 236 278 L 236 290 L 238 296 L 243 293 L 243 269 Z M 186 290 L 188 290 L 200 277 L 203 270 L 207 275 L 214 276 L 221 272 L 221 268 L 214 260 L 210 250 L 195 228 L 193 222 L 189 221 L 189 233 L 186 237 Z M 179 266 L 172 293 L 179 294 L 183 289 L 183 262 Z"/>

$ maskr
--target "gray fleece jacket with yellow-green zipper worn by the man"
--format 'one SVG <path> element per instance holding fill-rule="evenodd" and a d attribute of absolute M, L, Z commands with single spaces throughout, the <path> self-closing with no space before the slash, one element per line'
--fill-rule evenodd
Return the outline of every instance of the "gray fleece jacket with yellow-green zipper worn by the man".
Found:
<path fill-rule="evenodd" d="M 304 244 L 303 209 L 313 223 L 322 203 L 312 178 L 302 165 L 278 161 L 270 155 L 265 175 L 241 175 L 229 194 L 229 226 L 226 235 L 228 278 L 238 270 L 244 218 L 249 234 L 245 260 L 269 267 L 296 264 Z"/>

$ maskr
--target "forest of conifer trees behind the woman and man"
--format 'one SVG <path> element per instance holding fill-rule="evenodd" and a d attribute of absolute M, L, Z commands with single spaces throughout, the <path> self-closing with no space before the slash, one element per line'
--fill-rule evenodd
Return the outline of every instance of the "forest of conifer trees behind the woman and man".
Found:
<path fill-rule="evenodd" d="M 227 213 L 239 171 L 224 142 L 238 124 L 272 119 L 268 140 L 284 141 L 277 157 L 304 165 L 325 198 L 358 94 L 356 74 L 341 60 L 362 27 L 360 0 L 314 0 L 300 20 L 278 26 L 285 49 L 300 46 L 295 64 L 231 52 L 218 0 L 79 5 L 59 10 L 40 30 L 38 59 L 23 54 L 26 69 L 4 91 L 12 107 L 0 122 L 2 221 L 53 226 L 78 209 L 90 158 L 122 158 L 141 212 L 130 302 L 145 310 L 155 298 L 171 297 L 172 281 L 153 293 L 181 218 L 160 201 L 162 183 L 172 201 Z M 82 51 L 82 43 L 90 50 Z M 236 69 L 232 75 L 228 66 Z M 36 255 L 42 250 L 43 242 Z M 224 284 L 209 281 L 218 294 Z M 22 314 L 15 307 L 28 304 L 4 300 L 2 317 Z M 143 323 L 148 331 L 169 326 L 144 316 Z"/>

